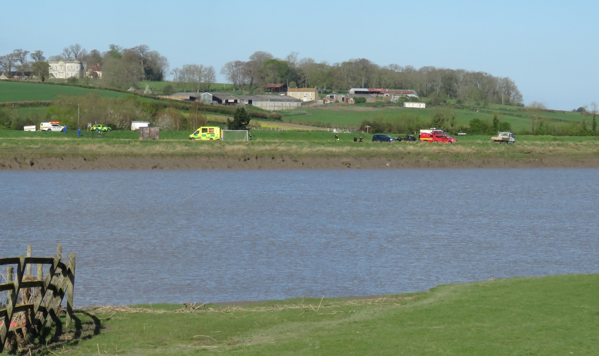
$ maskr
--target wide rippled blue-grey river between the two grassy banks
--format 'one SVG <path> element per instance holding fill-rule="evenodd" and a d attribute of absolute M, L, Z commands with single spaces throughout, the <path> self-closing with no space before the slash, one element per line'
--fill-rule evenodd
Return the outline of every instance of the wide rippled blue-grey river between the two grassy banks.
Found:
<path fill-rule="evenodd" d="M 0 257 L 75 305 L 420 291 L 599 272 L 597 169 L 0 171 Z M 35 268 L 34 268 L 35 270 Z"/>

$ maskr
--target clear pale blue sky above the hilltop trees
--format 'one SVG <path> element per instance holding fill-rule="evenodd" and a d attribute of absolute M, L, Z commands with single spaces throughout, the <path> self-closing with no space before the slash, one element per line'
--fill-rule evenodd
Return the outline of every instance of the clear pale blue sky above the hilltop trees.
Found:
<path fill-rule="evenodd" d="M 147 44 L 171 68 L 247 60 L 256 50 L 330 63 L 367 58 L 485 71 L 515 80 L 525 103 L 599 102 L 599 5 L 591 1 L 29 1 L 2 18 L 0 54 L 57 55 Z M 309 39 L 308 39 L 309 38 Z M 220 78 L 222 80 L 222 78 Z"/>

